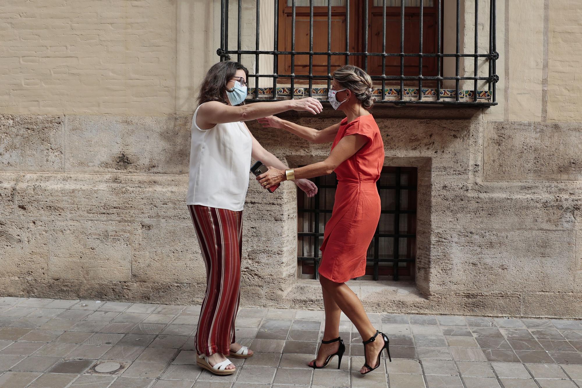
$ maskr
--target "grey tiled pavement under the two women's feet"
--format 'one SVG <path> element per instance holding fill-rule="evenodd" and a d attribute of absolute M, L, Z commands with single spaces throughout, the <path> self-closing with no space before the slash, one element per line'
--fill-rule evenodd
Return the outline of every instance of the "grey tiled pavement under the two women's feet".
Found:
<path fill-rule="evenodd" d="M 0 387 L 582 388 L 582 321 L 371 313 L 393 362 L 366 376 L 343 317 L 349 357 L 313 371 L 322 312 L 241 309 L 237 338 L 256 352 L 214 376 L 194 361 L 198 306 L 0 298 Z M 97 365 L 119 364 L 115 372 Z M 332 361 L 332 367 L 337 362 Z M 96 370 L 97 369 L 97 370 Z"/>

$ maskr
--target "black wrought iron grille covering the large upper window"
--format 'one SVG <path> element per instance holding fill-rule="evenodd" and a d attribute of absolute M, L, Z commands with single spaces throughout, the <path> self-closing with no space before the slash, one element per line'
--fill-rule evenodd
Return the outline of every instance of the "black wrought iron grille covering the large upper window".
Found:
<path fill-rule="evenodd" d="M 327 91 L 331 87 L 332 72 L 332 58 L 343 57 L 345 64 L 356 64 L 361 66 L 366 72 L 370 73 L 368 67 L 371 62 L 381 62 L 381 73 L 372 74 L 374 81 L 374 93 L 377 94 L 377 102 L 379 103 L 393 103 L 397 105 L 403 104 L 454 104 L 454 105 L 479 105 L 491 106 L 496 105 L 495 98 L 495 84 L 499 80 L 496 75 L 496 59 L 499 58 L 496 52 L 496 36 L 495 36 L 495 0 L 269 0 L 274 1 L 274 14 L 272 16 L 272 24 L 274 24 L 272 36 L 272 50 L 261 50 L 261 40 L 265 38 L 265 33 L 261 33 L 261 0 L 237 0 L 235 6 L 229 4 L 229 0 L 221 0 L 221 47 L 218 48 L 217 54 L 221 61 L 236 59 L 241 61 L 243 56 L 249 56 L 251 61 L 254 61 L 254 73 L 250 76 L 254 79 L 254 87 L 249 88 L 249 97 L 247 101 L 275 101 L 294 97 L 316 97 L 322 101 L 327 102 Z M 332 5 L 332 1 L 335 1 Z M 233 0 L 234 2 L 234 0 Z M 243 18 L 243 3 L 244 9 L 252 8 L 254 5 L 254 50 L 243 50 L 242 46 L 251 46 L 248 42 L 252 37 L 248 31 L 243 37 L 242 24 L 249 26 L 249 20 L 242 20 Z M 314 5 L 315 3 L 315 5 Z M 448 34 L 443 33 L 444 19 L 443 19 L 443 3 L 446 3 L 447 15 L 455 16 L 455 33 L 452 33 L 452 23 L 448 20 Z M 480 10 L 481 8 L 488 8 Z M 345 8 L 345 50 L 332 50 L 332 14 L 338 9 L 338 4 Z M 485 7 L 487 5 L 488 7 Z M 452 10 L 453 6 L 455 7 Z M 285 46 L 279 40 L 279 29 L 281 26 L 281 8 L 289 9 L 290 13 L 290 47 Z M 436 28 L 434 30 L 426 30 L 424 25 L 425 10 L 434 9 Z M 322 9 L 327 9 L 327 36 L 318 34 L 314 37 L 314 9 L 318 10 L 318 15 L 322 16 L 325 12 Z M 378 22 L 378 18 L 372 20 L 374 26 L 370 24 L 369 16 L 372 15 L 371 9 L 379 15 L 381 13 L 382 22 Z M 381 10 L 380 10 L 381 9 Z M 398 52 L 389 52 L 386 50 L 386 15 L 387 9 L 390 15 L 397 14 L 395 9 L 399 9 L 400 22 L 400 47 Z M 355 10 L 355 11 L 354 11 Z M 304 48 L 307 50 L 298 50 L 297 47 L 297 29 L 296 20 L 297 12 L 304 15 L 308 13 L 308 47 L 307 43 Z M 354 12 L 357 15 L 354 16 Z M 235 21 L 236 13 L 237 23 L 237 43 L 236 50 L 229 47 L 229 22 Z M 408 20 L 408 15 L 417 15 L 418 30 L 414 31 L 414 37 L 418 36 L 416 43 L 417 48 L 414 50 L 406 50 L 405 38 L 406 33 L 411 36 L 411 29 L 409 24 L 405 23 Z M 473 15 L 474 14 L 474 15 Z M 487 23 L 480 24 L 479 16 L 487 17 Z M 232 20 L 231 20 L 232 16 Z M 249 16 L 247 14 L 247 16 Z M 265 15 L 263 15 L 265 17 Z M 268 17 L 268 16 L 266 16 Z M 307 17 L 307 16 L 306 16 Z M 451 16 L 452 17 L 452 16 Z M 361 23 L 359 20 L 363 19 L 361 24 L 361 31 L 356 31 L 352 34 L 350 30 L 350 23 Z M 270 20 L 270 19 L 269 19 Z M 463 20 L 463 26 L 461 25 Z M 392 21 L 393 22 L 393 21 Z M 318 26 L 321 26 L 322 19 L 318 16 Z M 379 23 L 382 24 L 382 38 L 381 46 L 378 39 L 377 50 L 370 50 L 370 33 L 371 27 L 379 29 Z M 405 27 L 406 24 L 406 27 Z M 303 25 L 303 24 L 302 24 Z M 357 24 L 358 26 L 360 24 Z M 416 25 L 416 23 L 415 23 Z M 233 28 L 231 27 L 231 30 Z M 471 30 L 474 30 L 471 34 Z M 480 45 L 480 30 L 481 34 L 486 35 L 487 43 L 484 40 Z M 270 33 L 270 31 L 269 31 Z M 303 29 L 299 31 L 300 34 L 307 34 Z M 379 31 L 378 31 L 379 34 Z M 425 41 L 424 37 L 433 36 L 436 34 L 435 46 L 430 50 L 423 47 Z M 352 36 L 353 35 L 353 36 Z M 445 36 L 446 35 L 446 36 Z M 337 36 L 333 37 L 338 38 Z M 354 40 L 358 41 L 359 51 L 350 50 L 350 39 L 352 43 Z M 246 42 L 244 42 L 246 40 Z M 324 43 L 322 40 L 327 40 L 327 50 L 315 51 L 314 42 L 321 47 Z M 454 42 L 454 52 L 445 52 L 443 44 L 447 43 L 452 47 Z M 392 44 L 392 42 L 391 42 Z M 285 50 L 285 48 L 287 50 Z M 413 52 L 407 52 L 413 51 Z M 449 50 L 453 51 L 453 50 Z M 231 55 L 236 55 L 235 58 Z M 269 61 L 272 61 L 272 67 L 264 69 L 260 68 L 260 57 L 266 56 Z M 297 57 L 308 57 L 308 65 L 303 66 L 307 70 L 297 69 Z M 314 73 L 314 57 L 327 57 L 327 74 Z M 290 71 L 281 72 L 282 57 L 290 58 Z M 450 58 L 450 59 L 449 59 Z M 453 64 L 454 59 L 454 64 Z M 393 63 L 399 61 L 399 73 L 386 73 L 386 61 Z M 416 73 L 410 74 L 408 71 L 409 65 L 406 63 L 418 64 Z M 446 66 L 445 66 L 446 61 Z M 436 62 L 436 69 L 434 73 L 427 74 L 424 69 L 427 62 Z M 481 63 L 485 62 L 485 63 Z M 471 70 L 471 66 L 473 70 Z M 445 67 L 447 71 L 445 71 Z M 454 69 L 453 69 L 454 68 Z M 407 74 L 409 72 L 409 74 Z M 472 73 L 471 73 L 472 72 Z M 445 73 L 449 75 L 445 75 Z M 454 74 L 454 75 L 453 75 Z M 270 80 L 269 80 L 270 79 Z M 261 87 L 267 84 L 268 87 Z M 300 87 L 302 84 L 307 84 L 308 87 Z M 327 88 L 325 85 L 327 84 Z M 446 84 L 446 85 L 445 85 Z M 454 84 L 454 87 L 452 87 Z M 315 87 L 314 87 L 315 86 Z"/>

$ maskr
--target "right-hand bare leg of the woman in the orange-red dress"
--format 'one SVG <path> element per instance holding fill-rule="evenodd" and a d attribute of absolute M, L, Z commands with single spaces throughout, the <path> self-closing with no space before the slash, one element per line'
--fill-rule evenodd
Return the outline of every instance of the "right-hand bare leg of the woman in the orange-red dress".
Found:
<path fill-rule="evenodd" d="M 360 336 L 363 340 L 368 340 L 368 338 L 374 336 L 376 329 L 372 326 L 370 319 L 364 311 L 364 306 L 362 306 L 360 299 L 357 295 L 347 287 L 345 283 L 336 283 L 328 278 L 320 276 L 321 287 L 324 288 L 328 295 L 330 295 L 336 304 L 342 309 L 343 313 L 347 315 L 356 329 L 359 331 Z M 338 319 L 339 320 L 339 319 Z M 374 368 L 377 364 L 376 360 L 378 357 L 378 352 L 384 346 L 384 340 L 381 336 L 376 337 L 376 340 L 365 346 L 365 356 L 368 361 L 368 365 Z M 368 371 L 368 368 L 362 366 L 360 369 L 361 373 Z"/>

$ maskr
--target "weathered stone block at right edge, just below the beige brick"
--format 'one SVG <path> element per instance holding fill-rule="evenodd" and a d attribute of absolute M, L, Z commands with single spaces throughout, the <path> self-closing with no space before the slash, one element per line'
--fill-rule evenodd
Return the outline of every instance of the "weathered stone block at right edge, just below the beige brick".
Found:
<path fill-rule="evenodd" d="M 582 125 L 488 122 L 486 181 L 582 181 Z"/>

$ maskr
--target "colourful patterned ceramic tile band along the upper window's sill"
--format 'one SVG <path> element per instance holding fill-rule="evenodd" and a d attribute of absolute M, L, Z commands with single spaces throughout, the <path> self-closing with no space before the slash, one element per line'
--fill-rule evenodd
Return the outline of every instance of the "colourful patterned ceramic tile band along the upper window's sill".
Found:
<path fill-rule="evenodd" d="M 295 87 L 293 88 L 293 95 L 294 97 L 302 97 L 308 96 L 309 88 L 308 87 Z M 384 89 L 385 91 L 385 100 L 398 100 L 400 98 L 400 88 L 398 89 L 391 89 L 387 88 Z M 249 96 L 254 97 L 255 88 L 249 88 Z M 423 97 L 435 97 L 437 96 L 437 89 L 422 89 Z M 317 87 L 311 89 L 311 96 L 313 97 L 324 97 L 327 100 L 328 89 L 327 87 Z M 374 89 L 372 94 L 375 96 L 382 96 L 381 89 Z M 456 89 L 441 89 L 440 95 L 441 98 L 455 98 L 457 94 Z M 261 97 L 272 97 L 273 96 L 273 88 L 272 87 L 260 87 L 258 88 L 258 95 L 259 98 Z M 277 87 L 277 97 L 290 97 L 291 96 L 291 88 L 290 87 Z M 459 98 L 464 99 L 473 99 L 475 96 L 474 90 L 459 90 Z M 418 97 L 418 89 L 404 89 L 404 97 Z M 477 90 L 477 100 L 491 100 L 491 92 L 488 90 Z"/>

